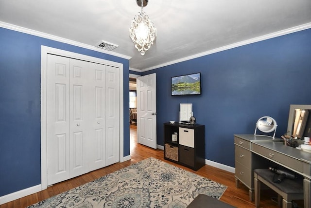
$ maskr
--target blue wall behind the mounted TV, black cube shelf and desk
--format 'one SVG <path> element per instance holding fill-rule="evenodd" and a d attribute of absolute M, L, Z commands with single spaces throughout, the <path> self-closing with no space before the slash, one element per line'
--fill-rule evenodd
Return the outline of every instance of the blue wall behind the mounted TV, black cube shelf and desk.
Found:
<path fill-rule="evenodd" d="M 202 95 L 171 96 L 171 76 L 201 72 Z M 272 116 L 279 137 L 290 104 L 311 104 L 311 29 L 144 72 L 156 73 L 157 144 L 163 123 L 179 121 L 179 103 L 192 103 L 205 125 L 206 159 L 234 167 L 233 134 L 254 134 Z"/>

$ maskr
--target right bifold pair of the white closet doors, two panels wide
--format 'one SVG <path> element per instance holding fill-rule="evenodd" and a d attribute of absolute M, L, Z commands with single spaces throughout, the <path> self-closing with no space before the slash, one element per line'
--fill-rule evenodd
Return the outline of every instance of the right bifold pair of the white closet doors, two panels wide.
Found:
<path fill-rule="evenodd" d="M 89 63 L 91 152 L 89 171 L 119 162 L 119 69 Z"/>

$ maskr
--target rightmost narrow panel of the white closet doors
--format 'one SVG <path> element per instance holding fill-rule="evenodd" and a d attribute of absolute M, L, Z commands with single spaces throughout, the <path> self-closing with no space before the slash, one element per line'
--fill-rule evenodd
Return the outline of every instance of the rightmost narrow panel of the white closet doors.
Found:
<path fill-rule="evenodd" d="M 106 66 L 106 166 L 119 161 L 119 69 Z"/>

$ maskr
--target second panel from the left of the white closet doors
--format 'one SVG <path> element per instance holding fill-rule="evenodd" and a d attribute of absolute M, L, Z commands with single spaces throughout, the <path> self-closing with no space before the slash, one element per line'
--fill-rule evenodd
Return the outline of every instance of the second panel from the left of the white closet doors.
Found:
<path fill-rule="evenodd" d="M 89 82 L 88 62 L 70 59 L 70 178 L 88 172 Z"/>

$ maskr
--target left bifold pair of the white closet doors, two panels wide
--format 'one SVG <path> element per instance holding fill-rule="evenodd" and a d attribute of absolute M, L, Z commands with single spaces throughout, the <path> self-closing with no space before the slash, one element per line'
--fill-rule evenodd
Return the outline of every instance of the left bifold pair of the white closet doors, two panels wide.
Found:
<path fill-rule="evenodd" d="M 47 184 L 88 172 L 88 62 L 48 55 Z"/>

